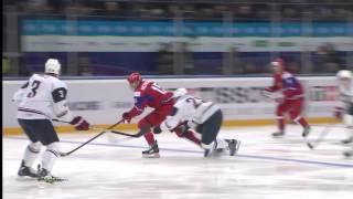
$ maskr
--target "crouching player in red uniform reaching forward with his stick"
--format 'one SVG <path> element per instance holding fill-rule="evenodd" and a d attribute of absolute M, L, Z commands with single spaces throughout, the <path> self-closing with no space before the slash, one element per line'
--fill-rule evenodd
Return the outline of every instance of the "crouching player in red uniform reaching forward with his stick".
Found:
<path fill-rule="evenodd" d="M 130 123 L 131 118 L 140 115 L 147 106 L 154 108 L 139 121 L 138 127 L 149 144 L 149 149 L 142 151 L 142 156 L 158 158 L 160 157 L 159 148 L 151 127 L 159 126 L 171 113 L 174 105 L 173 93 L 161 90 L 154 82 L 142 80 L 139 73 L 131 73 L 128 82 L 135 91 L 135 106 L 124 113 L 122 118 Z"/>

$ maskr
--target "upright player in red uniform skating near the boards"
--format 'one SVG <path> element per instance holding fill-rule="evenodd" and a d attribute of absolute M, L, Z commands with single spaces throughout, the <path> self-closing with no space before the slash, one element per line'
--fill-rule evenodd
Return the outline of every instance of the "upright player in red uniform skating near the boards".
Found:
<path fill-rule="evenodd" d="M 308 136 L 310 126 L 300 115 L 304 101 L 302 85 L 292 73 L 286 71 L 284 60 L 276 59 L 271 62 L 271 66 L 274 69 L 274 85 L 265 88 L 265 91 L 267 93 L 281 93 L 281 97 L 276 98 L 278 103 L 276 111 L 278 132 L 274 133 L 272 136 L 279 137 L 285 135 L 284 115 L 286 113 L 289 114 L 291 119 L 303 127 L 302 137 Z"/>

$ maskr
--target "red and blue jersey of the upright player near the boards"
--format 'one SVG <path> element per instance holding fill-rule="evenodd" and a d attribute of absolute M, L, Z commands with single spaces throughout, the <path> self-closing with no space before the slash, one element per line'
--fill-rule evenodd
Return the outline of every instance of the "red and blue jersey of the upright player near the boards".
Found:
<path fill-rule="evenodd" d="M 302 85 L 293 74 L 287 71 L 274 75 L 274 85 L 269 87 L 269 91 L 280 91 L 287 100 L 297 100 L 303 96 Z"/>

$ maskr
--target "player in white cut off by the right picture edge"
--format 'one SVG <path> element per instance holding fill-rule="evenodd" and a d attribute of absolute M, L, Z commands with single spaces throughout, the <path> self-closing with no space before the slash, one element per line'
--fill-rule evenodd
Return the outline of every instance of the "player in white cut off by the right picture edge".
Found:
<path fill-rule="evenodd" d="M 353 74 L 351 71 L 341 70 L 336 74 L 339 88 L 339 104 L 335 107 L 335 116 L 343 119 L 350 136 L 342 140 L 343 144 L 353 143 Z M 353 150 L 353 149 L 352 149 Z M 346 151 L 345 156 L 352 156 L 353 151 Z"/>

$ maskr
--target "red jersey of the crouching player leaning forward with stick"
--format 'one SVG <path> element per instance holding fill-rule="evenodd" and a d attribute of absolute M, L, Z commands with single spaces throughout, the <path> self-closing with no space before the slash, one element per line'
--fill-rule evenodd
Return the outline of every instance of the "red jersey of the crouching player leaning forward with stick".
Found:
<path fill-rule="evenodd" d="M 165 92 L 154 82 L 150 81 L 142 81 L 142 83 L 136 87 L 133 98 L 135 106 L 130 111 L 132 116 L 141 114 L 147 106 L 158 109 L 163 105 L 174 103 L 172 92 Z"/>

